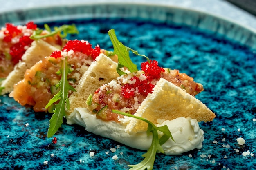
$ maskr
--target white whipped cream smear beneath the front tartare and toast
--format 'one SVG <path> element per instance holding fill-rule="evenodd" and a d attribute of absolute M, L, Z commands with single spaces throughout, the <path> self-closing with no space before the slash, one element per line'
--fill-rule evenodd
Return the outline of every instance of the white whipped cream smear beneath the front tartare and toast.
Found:
<path fill-rule="evenodd" d="M 103 121 L 97 119 L 95 114 L 87 108 L 76 108 L 67 118 L 67 124 L 78 124 L 84 126 L 85 130 L 102 137 L 113 139 L 117 142 L 140 150 L 148 150 L 151 145 L 152 135 L 147 136 L 146 132 L 129 135 L 125 132 L 126 126 L 115 121 Z M 180 155 L 193 149 L 202 148 L 204 131 L 199 128 L 196 119 L 178 117 L 173 120 L 163 121 L 157 126 L 167 125 L 173 135 L 163 145 L 164 154 Z"/>

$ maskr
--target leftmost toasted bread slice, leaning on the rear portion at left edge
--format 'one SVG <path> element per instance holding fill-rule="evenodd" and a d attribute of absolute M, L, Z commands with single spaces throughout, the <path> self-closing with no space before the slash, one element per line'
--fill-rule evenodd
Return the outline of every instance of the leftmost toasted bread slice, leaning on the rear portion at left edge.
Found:
<path fill-rule="evenodd" d="M 13 91 L 13 84 L 24 78 L 27 69 L 31 68 L 36 62 L 42 60 L 45 56 L 49 56 L 53 51 L 59 50 L 55 46 L 48 44 L 43 40 L 33 41 L 31 46 L 22 55 L 22 60 L 15 65 L 13 71 L 9 73 L 1 87 L 4 87 L 1 95 Z"/>

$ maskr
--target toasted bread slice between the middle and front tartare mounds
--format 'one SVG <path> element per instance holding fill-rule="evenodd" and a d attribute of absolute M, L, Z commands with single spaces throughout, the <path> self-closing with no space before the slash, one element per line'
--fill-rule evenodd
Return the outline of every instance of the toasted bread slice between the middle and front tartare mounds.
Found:
<path fill-rule="evenodd" d="M 85 102 L 90 94 L 93 94 L 103 84 L 119 77 L 116 68 L 116 62 L 100 54 L 79 80 L 76 92 L 69 97 L 70 113 L 74 111 L 74 108 L 87 107 Z"/>

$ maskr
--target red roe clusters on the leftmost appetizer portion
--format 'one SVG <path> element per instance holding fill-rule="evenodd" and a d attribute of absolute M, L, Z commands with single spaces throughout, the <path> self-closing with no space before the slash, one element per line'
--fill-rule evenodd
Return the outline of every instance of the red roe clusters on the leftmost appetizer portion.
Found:
<path fill-rule="evenodd" d="M 26 51 L 26 47 L 29 47 L 34 40 L 31 40 L 27 35 L 21 35 L 21 30 L 17 26 L 11 23 L 5 24 L 6 30 L 4 31 L 4 42 L 11 42 L 12 38 L 20 35 L 19 41 L 10 47 L 9 54 L 12 57 L 13 64 L 17 64 L 21 60 L 22 55 Z M 26 24 L 27 29 L 35 30 L 37 25 L 34 22 L 28 22 Z"/>

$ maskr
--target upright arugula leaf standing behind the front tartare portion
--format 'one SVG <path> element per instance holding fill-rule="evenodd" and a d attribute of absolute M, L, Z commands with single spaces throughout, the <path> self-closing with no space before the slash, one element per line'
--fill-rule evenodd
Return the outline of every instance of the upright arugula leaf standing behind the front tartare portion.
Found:
<path fill-rule="evenodd" d="M 132 51 L 135 55 L 139 55 L 142 57 L 146 57 L 146 55 L 141 55 L 138 53 L 138 51 L 135 51 L 127 46 L 124 46 L 118 39 L 115 34 L 115 30 L 111 29 L 108 31 L 108 35 L 110 37 L 110 40 L 114 47 L 113 54 L 116 54 L 118 56 L 118 65 L 117 65 L 117 73 L 119 75 L 126 74 L 123 71 L 120 70 L 122 67 L 127 67 L 130 72 L 136 72 L 138 71 L 137 65 L 132 62 L 129 56 L 129 51 Z M 150 60 L 148 57 L 146 57 L 148 62 L 150 63 Z"/>

